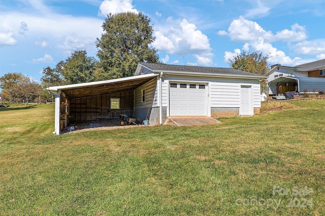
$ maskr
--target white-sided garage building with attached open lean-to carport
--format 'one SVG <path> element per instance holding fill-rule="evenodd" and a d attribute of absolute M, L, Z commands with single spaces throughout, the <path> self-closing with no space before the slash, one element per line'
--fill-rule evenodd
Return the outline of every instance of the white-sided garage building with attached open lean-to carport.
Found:
<path fill-rule="evenodd" d="M 233 68 L 139 63 L 132 77 L 48 88 L 55 98 L 55 133 L 70 123 L 119 114 L 163 124 L 169 116 L 254 115 L 266 76 Z"/>

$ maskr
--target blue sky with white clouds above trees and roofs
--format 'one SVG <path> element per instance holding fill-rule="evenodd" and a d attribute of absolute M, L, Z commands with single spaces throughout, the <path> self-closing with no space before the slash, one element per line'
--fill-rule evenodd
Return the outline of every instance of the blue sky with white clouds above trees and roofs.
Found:
<path fill-rule="evenodd" d="M 269 55 L 270 65 L 325 59 L 325 0 L 2 0 L 0 76 L 40 82 L 43 68 L 77 49 L 96 58 L 105 16 L 126 11 L 151 19 L 167 64 L 229 67 L 243 51 Z"/>

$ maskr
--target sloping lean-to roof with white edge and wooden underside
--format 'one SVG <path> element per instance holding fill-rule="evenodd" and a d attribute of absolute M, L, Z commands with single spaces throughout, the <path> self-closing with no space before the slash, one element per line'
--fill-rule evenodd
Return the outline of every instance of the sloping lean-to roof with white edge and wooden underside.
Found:
<path fill-rule="evenodd" d="M 104 81 L 60 85 L 57 87 L 50 87 L 47 90 L 52 93 L 62 91 L 64 94 L 66 94 L 66 97 L 69 100 L 72 100 L 117 92 L 132 91 L 156 76 L 158 76 L 158 74 L 145 74 Z"/>

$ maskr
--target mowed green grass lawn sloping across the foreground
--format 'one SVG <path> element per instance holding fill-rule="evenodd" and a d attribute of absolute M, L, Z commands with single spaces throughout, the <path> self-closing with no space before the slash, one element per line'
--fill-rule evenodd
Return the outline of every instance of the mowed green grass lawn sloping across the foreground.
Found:
<path fill-rule="evenodd" d="M 0 109 L 0 215 L 325 215 L 325 100 L 291 103 L 61 136 L 54 105 Z"/>

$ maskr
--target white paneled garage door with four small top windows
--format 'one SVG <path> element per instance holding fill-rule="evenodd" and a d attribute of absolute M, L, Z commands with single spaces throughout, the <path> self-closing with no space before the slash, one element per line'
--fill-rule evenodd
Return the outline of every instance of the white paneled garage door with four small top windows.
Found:
<path fill-rule="evenodd" d="M 170 116 L 206 116 L 207 85 L 171 82 Z"/>

